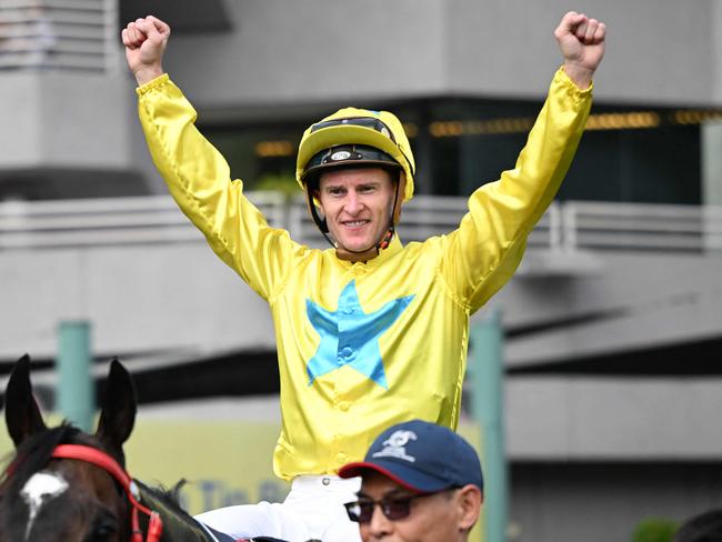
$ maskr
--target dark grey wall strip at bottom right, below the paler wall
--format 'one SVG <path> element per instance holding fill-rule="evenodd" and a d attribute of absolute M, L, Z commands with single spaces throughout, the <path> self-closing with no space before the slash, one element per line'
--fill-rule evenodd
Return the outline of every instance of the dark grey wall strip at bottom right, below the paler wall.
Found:
<path fill-rule="evenodd" d="M 522 463 L 511 471 L 510 542 L 628 542 L 639 522 L 720 506 L 720 463 Z"/>

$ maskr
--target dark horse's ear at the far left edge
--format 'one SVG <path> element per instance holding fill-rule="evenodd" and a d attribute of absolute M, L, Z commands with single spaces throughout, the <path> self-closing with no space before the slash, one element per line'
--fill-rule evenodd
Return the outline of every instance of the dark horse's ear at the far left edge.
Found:
<path fill-rule="evenodd" d="M 16 448 L 31 434 L 47 429 L 30 385 L 30 357 L 16 362 L 6 388 L 6 424 Z"/>

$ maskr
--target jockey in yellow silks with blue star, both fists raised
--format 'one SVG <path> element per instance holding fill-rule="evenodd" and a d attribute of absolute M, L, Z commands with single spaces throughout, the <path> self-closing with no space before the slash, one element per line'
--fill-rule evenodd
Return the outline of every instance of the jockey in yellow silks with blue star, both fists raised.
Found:
<path fill-rule="evenodd" d="M 403 245 L 395 234 L 413 194 L 414 159 L 399 119 L 342 109 L 303 134 L 297 179 L 332 243 L 297 243 L 271 228 L 194 126 L 164 73 L 170 28 L 147 17 L 122 32 L 153 161 L 213 251 L 268 301 L 280 372 L 282 428 L 273 470 L 283 503 L 201 514 L 235 538 L 359 541 L 343 503 L 360 481 L 338 470 L 384 429 L 421 419 L 455 429 L 469 319 L 512 277 L 527 238 L 571 163 L 591 107 L 604 24 L 566 13 L 554 34 L 563 66 L 514 169 L 469 198 L 448 235 Z"/>

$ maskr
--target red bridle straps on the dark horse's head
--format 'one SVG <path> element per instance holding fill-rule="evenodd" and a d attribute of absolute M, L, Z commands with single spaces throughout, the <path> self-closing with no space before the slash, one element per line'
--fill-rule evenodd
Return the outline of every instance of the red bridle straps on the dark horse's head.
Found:
<path fill-rule="evenodd" d="M 108 474 L 116 479 L 120 486 L 126 491 L 126 495 L 132 505 L 131 512 L 131 535 L 130 542 L 143 542 L 143 533 L 138 522 L 138 511 L 140 510 L 149 516 L 148 534 L 146 542 L 158 542 L 163 532 L 163 522 L 158 512 L 143 506 L 140 503 L 140 491 L 133 479 L 120 466 L 118 461 L 97 448 L 80 444 L 59 444 L 52 452 L 53 458 L 58 459 L 77 459 L 86 463 L 92 463 L 100 466 Z"/>

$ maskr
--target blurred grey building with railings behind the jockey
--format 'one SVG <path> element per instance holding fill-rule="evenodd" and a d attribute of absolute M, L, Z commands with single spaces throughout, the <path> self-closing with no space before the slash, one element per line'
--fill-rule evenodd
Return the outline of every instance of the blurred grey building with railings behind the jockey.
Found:
<path fill-rule="evenodd" d="M 136 375 L 141 413 L 277 420 L 270 315 L 166 195 L 120 48 L 127 21 L 172 26 L 166 69 L 200 129 L 273 224 L 322 247 L 290 191 L 309 123 L 348 104 L 395 111 L 419 164 L 401 237 L 450 231 L 464 197 L 513 167 L 568 9 L 609 28 L 595 104 L 489 305 L 507 338 L 510 539 L 622 541 L 644 518 L 719 506 L 714 0 L 0 0 L 3 374 L 26 351 L 51 368 L 58 323 L 83 319 L 97 359 Z M 49 384 L 40 393 L 52 404 Z"/>

